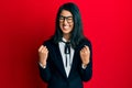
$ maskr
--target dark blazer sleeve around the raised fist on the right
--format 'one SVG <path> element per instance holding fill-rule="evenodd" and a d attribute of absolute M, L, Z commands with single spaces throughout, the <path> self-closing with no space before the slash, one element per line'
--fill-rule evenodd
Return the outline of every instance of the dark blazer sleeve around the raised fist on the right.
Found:
<path fill-rule="evenodd" d="M 87 65 L 87 67 L 84 69 L 81 67 L 81 63 L 79 65 L 79 72 L 80 72 L 80 76 L 81 76 L 81 79 L 82 81 L 88 81 L 91 76 L 92 76 L 92 48 L 91 48 L 91 43 L 88 41 L 88 42 L 85 42 L 84 45 L 88 45 L 89 46 L 89 50 L 90 50 L 90 62 L 89 64 Z"/>

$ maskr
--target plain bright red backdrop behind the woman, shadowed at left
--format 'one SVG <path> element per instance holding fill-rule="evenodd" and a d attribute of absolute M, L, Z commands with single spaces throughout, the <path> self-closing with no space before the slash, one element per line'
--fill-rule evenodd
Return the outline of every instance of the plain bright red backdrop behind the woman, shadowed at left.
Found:
<path fill-rule="evenodd" d="M 0 88 L 46 88 L 37 48 L 54 33 L 57 9 L 69 0 L 0 1 Z M 131 0 L 73 0 L 94 50 L 85 88 L 132 88 Z"/>

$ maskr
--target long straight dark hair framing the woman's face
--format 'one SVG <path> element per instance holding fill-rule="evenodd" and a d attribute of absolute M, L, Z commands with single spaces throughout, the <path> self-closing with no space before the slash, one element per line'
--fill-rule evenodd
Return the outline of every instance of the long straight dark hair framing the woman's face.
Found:
<path fill-rule="evenodd" d="M 67 2 L 58 9 L 57 16 L 56 16 L 55 34 L 53 35 L 53 40 L 54 40 L 54 43 L 58 43 L 63 37 L 63 32 L 61 31 L 61 28 L 59 28 L 59 15 L 63 10 L 69 11 L 74 18 L 74 28 L 70 35 L 70 43 L 72 43 L 72 46 L 75 48 L 76 45 L 78 45 L 79 42 L 84 38 L 84 34 L 82 34 L 82 23 L 81 23 L 79 9 L 73 2 Z"/>

